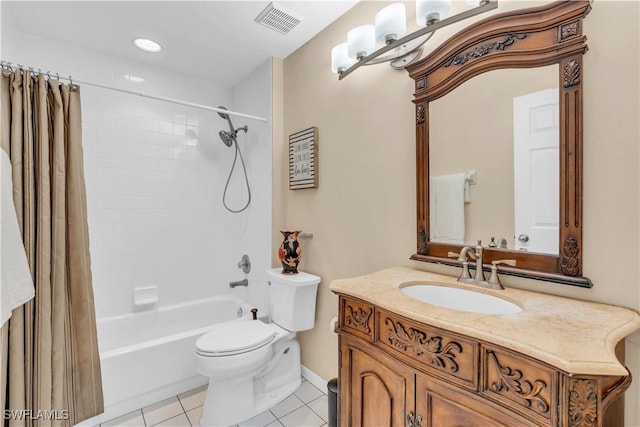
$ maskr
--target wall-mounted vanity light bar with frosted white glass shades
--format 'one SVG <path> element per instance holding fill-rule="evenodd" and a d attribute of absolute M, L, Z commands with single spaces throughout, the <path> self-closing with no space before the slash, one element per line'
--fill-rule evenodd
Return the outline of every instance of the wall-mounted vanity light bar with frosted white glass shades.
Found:
<path fill-rule="evenodd" d="M 347 33 L 347 42 L 331 49 L 331 70 L 342 80 L 362 65 L 389 62 L 403 69 L 422 54 L 422 46 L 436 30 L 498 7 L 497 0 L 467 0 L 473 6 L 445 18 L 451 0 L 417 0 L 416 22 L 423 28 L 405 35 L 404 3 L 392 3 L 380 10 L 375 25 L 362 25 Z M 377 45 L 381 45 L 376 49 Z"/>

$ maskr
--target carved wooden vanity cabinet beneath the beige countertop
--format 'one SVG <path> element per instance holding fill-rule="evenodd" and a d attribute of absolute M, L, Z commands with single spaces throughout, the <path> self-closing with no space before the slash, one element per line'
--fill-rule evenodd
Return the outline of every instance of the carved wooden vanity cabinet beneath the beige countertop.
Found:
<path fill-rule="evenodd" d="M 629 376 L 571 375 L 344 295 L 339 310 L 341 426 L 623 425 Z"/>

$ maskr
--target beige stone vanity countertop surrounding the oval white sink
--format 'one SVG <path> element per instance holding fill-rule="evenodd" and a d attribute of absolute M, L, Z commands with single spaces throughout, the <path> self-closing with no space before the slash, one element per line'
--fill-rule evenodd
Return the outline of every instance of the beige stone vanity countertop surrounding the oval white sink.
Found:
<path fill-rule="evenodd" d="M 495 295 L 517 304 L 522 311 L 471 313 L 421 302 L 400 291 L 420 282 Z M 407 267 L 333 280 L 330 289 L 418 322 L 501 345 L 576 375 L 628 375 L 615 356 L 615 347 L 640 329 L 640 315 L 627 308 L 512 288 L 484 289 L 459 283 L 455 277 Z"/>

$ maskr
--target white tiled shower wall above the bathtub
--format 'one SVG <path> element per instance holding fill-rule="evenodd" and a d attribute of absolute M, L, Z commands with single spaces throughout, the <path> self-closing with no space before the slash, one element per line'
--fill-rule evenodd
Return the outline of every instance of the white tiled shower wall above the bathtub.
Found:
<path fill-rule="evenodd" d="M 11 28 L 3 12 L 2 59 L 78 79 L 267 117 L 270 62 L 235 88 L 87 51 Z M 126 76 L 130 76 L 127 77 Z M 134 82 L 135 77 L 144 82 Z M 222 206 L 234 149 L 218 131 L 215 112 L 81 85 L 85 177 L 97 317 L 139 310 L 135 288 L 157 286 L 153 309 L 230 292 L 245 275 L 243 253 L 254 268 L 250 289 L 234 290 L 267 308 L 264 270 L 270 265 L 270 125 L 247 124 L 239 137 L 249 170 L 250 208 L 230 214 Z M 247 198 L 240 162 L 228 204 Z"/>

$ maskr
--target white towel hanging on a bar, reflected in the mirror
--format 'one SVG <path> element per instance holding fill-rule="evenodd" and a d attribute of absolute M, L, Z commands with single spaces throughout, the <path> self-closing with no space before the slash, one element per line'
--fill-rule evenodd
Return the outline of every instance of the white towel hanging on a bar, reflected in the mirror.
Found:
<path fill-rule="evenodd" d="M 464 187 L 466 174 L 432 176 L 429 188 L 430 238 L 464 243 Z"/>

